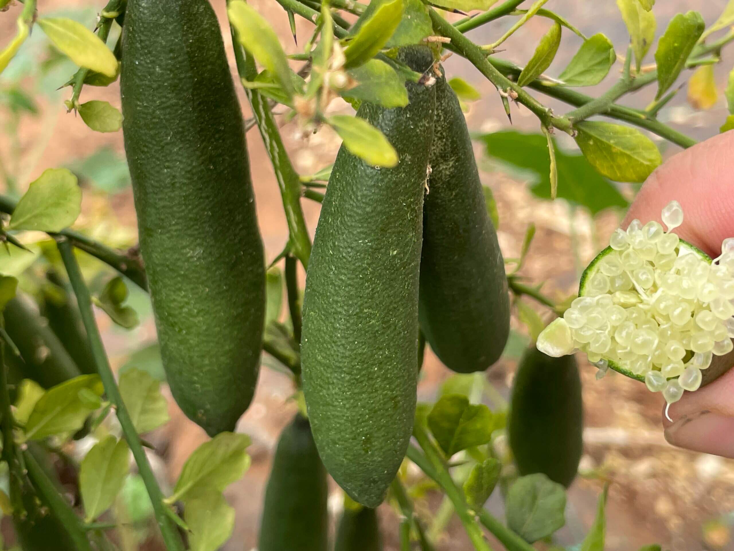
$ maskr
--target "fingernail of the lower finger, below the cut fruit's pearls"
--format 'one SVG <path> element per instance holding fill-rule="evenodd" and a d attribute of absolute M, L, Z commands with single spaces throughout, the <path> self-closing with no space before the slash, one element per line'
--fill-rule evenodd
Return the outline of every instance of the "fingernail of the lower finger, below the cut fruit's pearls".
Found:
<path fill-rule="evenodd" d="M 689 450 L 734 457 L 734 417 L 708 410 L 684 415 L 666 428 L 665 439 Z"/>

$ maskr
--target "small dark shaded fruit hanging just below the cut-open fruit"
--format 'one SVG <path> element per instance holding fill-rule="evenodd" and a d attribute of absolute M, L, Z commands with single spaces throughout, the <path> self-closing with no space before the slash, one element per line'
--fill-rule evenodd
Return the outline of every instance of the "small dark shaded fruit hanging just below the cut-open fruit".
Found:
<path fill-rule="evenodd" d="M 583 451 L 584 404 L 574 356 L 551 358 L 532 345 L 515 374 L 509 445 L 521 475 L 542 472 L 570 486 Z"/>

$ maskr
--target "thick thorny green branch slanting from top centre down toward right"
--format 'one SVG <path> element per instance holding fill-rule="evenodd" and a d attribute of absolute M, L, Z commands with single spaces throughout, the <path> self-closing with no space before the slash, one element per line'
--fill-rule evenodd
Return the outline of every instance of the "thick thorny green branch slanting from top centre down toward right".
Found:
<path fill-rule="evenodd" d="M 462 35 L 458 29 L 438 15 L 432 7 L 429 7 L 429 14 L 431 15 L 434 30 L 438 34 L 451 39 L 451 48 L 455 48 L 462 57 L 469 60 L 498 90 L 501 90 L 503 93 L 512 92 L 513 96 L 517 96 L 517 101 L 530 109 L 540 119 L 541 123 L 548 127 L 551 126 L 551 109 L 541 105 L 526 90 L 507 79 L 506 76 L 487 60 L 487 53 L 482 51 L 482 48 Z"/>

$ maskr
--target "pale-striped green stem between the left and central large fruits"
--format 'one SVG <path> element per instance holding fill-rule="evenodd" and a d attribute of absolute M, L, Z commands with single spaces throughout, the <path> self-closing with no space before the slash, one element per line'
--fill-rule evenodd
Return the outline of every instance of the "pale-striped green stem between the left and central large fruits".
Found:
<path fill-rule="evenodd" d="M 302 4 L 299 4 L 302 5 Z M 234 46 L 234 55 L 237 62 L 239 76 L 245 80 L 255 80 L 258 70 L 255 68 L 255 60 L 244 51 L 237 41 L 234 27 L 230 27 Z M 311 240 L 308 236 L 303 209 L 301 208 L 301 181 L 298 173 L 291 164 L 288 157 L 283 138 L 275 122 L 275 116 L 269 109 L 266 98 L 261 96 L 257 90 L 244 88 L 244 93 L 250 101 L 252 115 L 258 123 L 260 135 L 263 138 L 265 149 L 270 157 L 275 179 L 280 188 L 280 197 L 283 199 L 283 209 L 286 211 L 288 232 L 291 240 L 291 250 L 301 261 L 304 268 L 308 268 L 308 257 L 311 253 Z"/>

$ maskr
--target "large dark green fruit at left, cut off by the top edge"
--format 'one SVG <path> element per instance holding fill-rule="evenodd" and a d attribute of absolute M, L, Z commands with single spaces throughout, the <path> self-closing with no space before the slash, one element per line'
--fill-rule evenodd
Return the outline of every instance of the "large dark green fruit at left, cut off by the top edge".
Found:
<path fill-rule="evenodd" d="M 210 436 L 258 378 L 264 253 L 242 116 L 207 0 L 130 0 L 121 92 L 139 240 L 173 397 Z"/>

